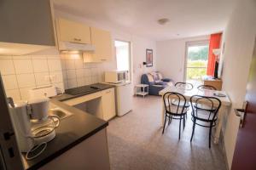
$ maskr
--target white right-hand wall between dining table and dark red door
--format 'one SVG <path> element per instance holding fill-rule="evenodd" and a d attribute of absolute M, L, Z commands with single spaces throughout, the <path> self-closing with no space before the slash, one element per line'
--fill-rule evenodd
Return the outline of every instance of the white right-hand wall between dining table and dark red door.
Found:
<path fill-rule="evenodd" d="M 256 1 L 240 1 L 224 31 L 223 88 L 230 95 L 232 109 L 224 132 L 229 167 L 232 163 L 238 130 L 233 108 L 241 108 L 246 94 L 247 77 L 256 35 Z"/>

